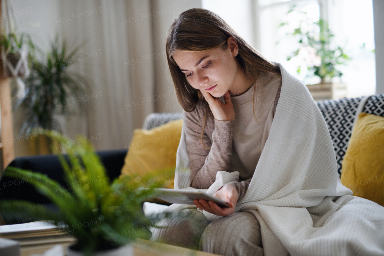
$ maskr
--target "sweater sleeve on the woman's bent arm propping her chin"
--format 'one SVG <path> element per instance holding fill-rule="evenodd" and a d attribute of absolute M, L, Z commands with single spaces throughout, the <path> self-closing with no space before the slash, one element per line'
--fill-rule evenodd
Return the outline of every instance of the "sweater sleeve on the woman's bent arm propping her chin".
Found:
<path fill-rule="evenodd" d="M 183 111 L 183 122 L 185 124 L 191 186 L 207 189 L 215 182 L 218 171 L 230 171 L 235 119 L 229 121 L 214 120 L 215 129 L 212 133 L 212 142 L 207 133 L 203 132 L 204 145 L 210 146 L 210 150 L 204 148 L 200 137 L 204 117 L 200 120 L 197 110 Z"/>

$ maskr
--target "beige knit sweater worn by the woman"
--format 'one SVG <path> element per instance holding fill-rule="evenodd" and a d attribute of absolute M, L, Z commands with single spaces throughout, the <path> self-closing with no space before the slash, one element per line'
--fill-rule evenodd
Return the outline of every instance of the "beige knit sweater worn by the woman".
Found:
<path fill-rule="evenodd" d="M 218 171 L 239 171 L 239 181 L 231 181 L 230 184 L 236 188 L 238 200 L 243 198 L 269 135 L 280 96 L 281 81 L 281 75 L 261 73 L 245 93 L 231 96 L 236 116 L 233 120 L 215 120 L 208 106 L 203 142 L 210 149 L 204 148 L 200 137 L 204 125 L 204 103 L 199 101 L 192 112 L 183 111 L 191 171 L 190 186 L 207 189 L 214 183 Z M 254 121 L 253 124 L 249 124 L 248 122 L 254 120 L 253 89 L 257 90 L 255 115 L 258 123 Z M 241 115 L 245 115 L 245 117 L 252 115 L 252 118 L 239 119 Z"/>

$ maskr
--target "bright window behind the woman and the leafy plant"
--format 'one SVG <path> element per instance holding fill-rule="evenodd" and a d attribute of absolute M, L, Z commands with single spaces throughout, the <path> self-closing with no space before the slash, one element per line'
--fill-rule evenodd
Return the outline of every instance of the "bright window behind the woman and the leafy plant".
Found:
<path fill-rule="evenodd" d="M 247 42 L 257 48 L 268 60 L 280 62 L 288 72 L 305 84 L 319 83 L 317 76 L 304 80 L 306 70 L 298 74 L 298 58 L 287 61 L 287 56 L 300 47 L 297 40 L 287 36 L 288 30 L 297 27 L 303 15 L 287 15 L 292 5 L 306 12 L 307 22 L 319 18 L 328 21 L 334 34 L 332 46 L 344 49 L 352 61 L 339 65 L 341 80 L 347 84 L 347 97 L 376 94 L 376 67 L 371 0 L 241 0 L 238 7 L 230 8 L 228 0 L 202 0 L 203 8 L 216 12 Z M 288 25 L 280 27 L 280 22 Z M 278 42 L 278 43 L 276 43 Z"/>

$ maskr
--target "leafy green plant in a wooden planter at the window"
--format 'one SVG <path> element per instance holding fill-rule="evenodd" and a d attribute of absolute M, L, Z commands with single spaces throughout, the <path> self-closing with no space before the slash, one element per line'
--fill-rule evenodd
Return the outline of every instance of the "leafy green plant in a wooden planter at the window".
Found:
<path fill-rule="evenodd" d="M 295 5 L 290 7 L 287 14 L 295 10 Z M 305 13 L 300 11 L 301 13 Z M 328 23 L 323 19 L 316 22 L 308 23 L 307 20 L 300 21 L 299 27 L 295 28 L 292 33 L 288 33 L 298 38 L 300 48 L 295 50 L 291 55 L 287 56 L 287 60 L 298 57 L 304 60 L 305 64 L 297 67 L 297 73 L 300 74 L 304 69 L 308 71 L 304 81 L 307 78 L 318 76 L 320 83 L 307 85 L 314 100 L 338 99 L 346 96 L 345 83 L 333 83 L 332 78 L 338 76 L 341 80 L 343 73 L 338 70 L 337 65 L 346 65 L 351 60 L 344 52 L 343 47 L 331 47 L 334 34 L 329 30 Z M 287 22 L 281 22 L 279 27 L 288 25 Z M 303 27 L 309 27 L 310 30 Z"/>

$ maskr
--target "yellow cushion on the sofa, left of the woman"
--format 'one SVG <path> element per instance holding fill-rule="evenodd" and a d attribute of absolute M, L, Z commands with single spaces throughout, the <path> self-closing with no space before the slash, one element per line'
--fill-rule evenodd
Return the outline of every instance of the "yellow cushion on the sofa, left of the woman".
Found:
<path fill-rule="evenodd" d="M 151 130 L 135 129 L 121 176 L 137 174 L 142 177 L 154 173 L 155 170 L 175 168 L 182 125 L 183 120 L 179 119 Z M 171 176 L 160 178 L 158 182 L 163 183 L 162 185 L 166 183 L 166 188 L 174 188 L 174 178 L 173 173 Z"/>

